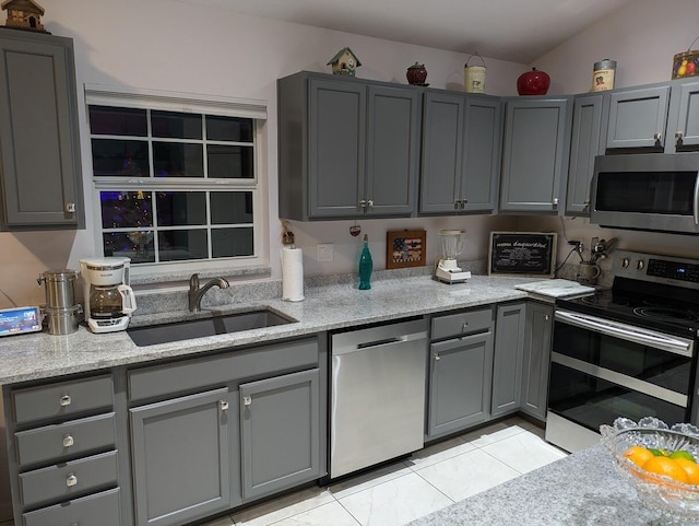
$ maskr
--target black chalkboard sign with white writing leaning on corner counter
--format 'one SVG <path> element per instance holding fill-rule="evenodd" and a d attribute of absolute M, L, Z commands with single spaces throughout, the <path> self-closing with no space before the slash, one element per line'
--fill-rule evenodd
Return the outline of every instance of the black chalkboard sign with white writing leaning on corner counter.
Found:
<path fill-rule="evenodd" d="M 488 274 L 553 278 L 556 237 L 545 232 L 490 232 Z"/>

